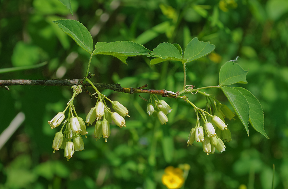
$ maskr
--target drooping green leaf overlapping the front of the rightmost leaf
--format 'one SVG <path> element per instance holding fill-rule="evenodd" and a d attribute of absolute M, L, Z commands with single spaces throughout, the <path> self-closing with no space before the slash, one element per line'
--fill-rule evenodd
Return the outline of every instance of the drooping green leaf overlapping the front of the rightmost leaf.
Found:
<path fill-rule="evenodd" d="M 224 92 L 230 104 L 233 106 L 240 121 L 245 126 L 247 134 L 249 136 L 248 120 L 249 120 L 250 108 L 245 96 L 240 91 L 232 87 L 221 86 L 220 88 Z"/>

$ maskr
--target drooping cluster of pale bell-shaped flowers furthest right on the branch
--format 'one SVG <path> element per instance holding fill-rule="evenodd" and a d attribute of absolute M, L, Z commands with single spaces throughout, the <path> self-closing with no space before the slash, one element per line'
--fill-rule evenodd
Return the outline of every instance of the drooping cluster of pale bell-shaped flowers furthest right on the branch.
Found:
<path fill-rule="evenodd" d="M 196 110 L 197 122 L 195 128 L 192 128 L 190 130 L 187 141 L 188 146 L 192 145 L 194 141 L 201 142 L 203 151 L 204 153 L 207 153 L 207 155 L 214 154 L 215 149 L 219 152 L 225 151 L 226 146 L 224 145 L 224 142 L 230 142 L 232 139 L 231 132 L 227 128 L 224 117 L 222 115 L 230 119 L 234 118 L 235 116 L 233 112 L 229 108 L 227 108 L 225 108 L 226 111 L 225 113 L 223 113 L 221 110 L 217 110 L 215 104 L 214 115 L 211 115 L 208 112 L 199 109 L 201 112 L 200 114 L 202 120 L 204 121 L 204 128 L 200 126 L 200 118 L 198 116 L 199 110 Z M 210 122 L 208 122 L 208 120 L 206 119 L 206 115 L 209 116 L 208 120 L 210 120 Z"/>

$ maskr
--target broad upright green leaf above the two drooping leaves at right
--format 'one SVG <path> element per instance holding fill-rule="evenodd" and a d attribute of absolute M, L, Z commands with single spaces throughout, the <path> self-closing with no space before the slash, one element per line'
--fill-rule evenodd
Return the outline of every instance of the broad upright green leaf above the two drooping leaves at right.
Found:
<path fill-rule="evenodd" d="M 228 61 L 220 69 L 219 85 L 232 85 L 234 83 L 247 84 L 247 73 L 248 71 L 243 70 L 239 64 Z"/>

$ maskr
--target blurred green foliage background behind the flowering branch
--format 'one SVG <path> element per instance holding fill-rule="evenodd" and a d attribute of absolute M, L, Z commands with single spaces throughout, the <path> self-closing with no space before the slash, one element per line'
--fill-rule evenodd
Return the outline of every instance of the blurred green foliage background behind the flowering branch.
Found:
<path fill-rule="evenodd" d="M 129 110 L 126 128 L 111 125 L 111 136 L 93 138 L 88 126 L 85 150 L 69 162 L 63 151 L 52 153 L 60 128 L 48 120 L 64 110 L 72 96 L 69 87 L 10 86 L 0 88 L 0 133 L 18 114 L 25 120 L 0 149 L 0 188 L 166 188 L 165 167 L 191 166 L 184 188 L 288 188 L 288 1 L 287 0 L 71 0 L 74 17 L 58 0 L 0 0 L 0 69 L 35 65 L 44 67 L 1 73 L 1 79 L 83 78 L 89 54 L 62 32 L 52 20 L 76 19 L 90 31 L 94 44 L 131 40 L 153 50 L 161 42 L 185 48 L 194 37 L 210 41 L 215 51 L 187 64 L 187 84 L 218 84 L 221 65 L 239 56 L 249 69 L 247 88 L 261 102 L 269 140 L 250 127 L 247 136 L 237 118 L 227 121 L 232 141 L 226 151 L 206 155 L 202 145 L 186 147 L 196 124 L 191 106 L 180 99 L 165 99 L 173 111 L 168 124 L 147 115 L 147 102 L 138 94 L 100 91 Z M 149 66 L 149 58 L 128 58 L 128 65 L 111 56 L 94 56 L 90 72 L 94 82 L 122 87 L 148 84 L 149 89 L 179 91 L 183 67 L 179 62 Z M 92 91 L 92 89 L 89 89 Z M 219 89 L 206 90 L 229 104 Z M 149 95 L 141 95 L 149 98 Z M 205 98 L 187 95 L 200 108 Z M 161 98 L 161 97 L 160 97 Z M 163 99 L 163 98 L 162 98 Z M 78 115 L 86 117 L 96 98 L 81 93 L 74 100 Z"/>

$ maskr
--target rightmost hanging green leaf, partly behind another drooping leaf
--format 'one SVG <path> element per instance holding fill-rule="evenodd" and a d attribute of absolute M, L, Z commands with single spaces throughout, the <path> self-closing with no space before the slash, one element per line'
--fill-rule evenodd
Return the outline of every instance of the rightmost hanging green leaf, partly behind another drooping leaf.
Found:
<path fill-rule="evenodd" d="M 263 109 L 258 99 L 247 89 L 242 87 L 233 87 L 240 91 L 248 101 L 250 107 L 249 122 L 253 128 L 261 133 L 264 137 L 269 139 L 264 130 L 264 114 Z"/>

